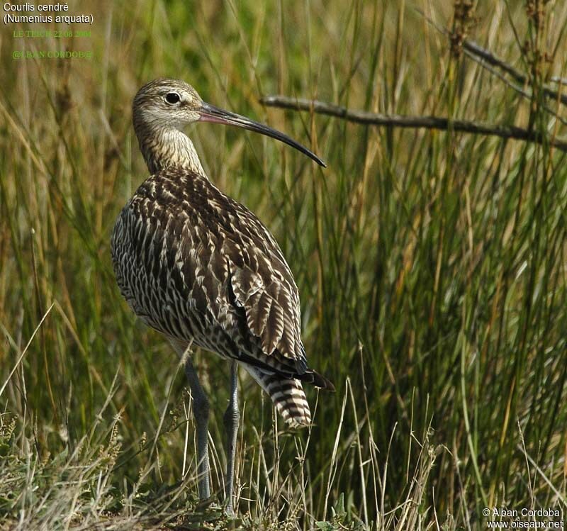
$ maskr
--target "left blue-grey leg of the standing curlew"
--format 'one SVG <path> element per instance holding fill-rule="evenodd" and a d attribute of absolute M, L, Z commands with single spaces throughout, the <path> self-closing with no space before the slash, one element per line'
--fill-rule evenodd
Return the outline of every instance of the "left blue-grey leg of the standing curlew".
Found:
<path fill-rule="evenodd" d="M 210 497 L 209 468 L 208 468 L 208 398 L 201 386 L 197 371 L 187 357 L 185 373 L 189 379 L 191 395 L 193 395 L 193 415 L 197 430 L 197 472 L 199 476 L 199 498 Z"/>

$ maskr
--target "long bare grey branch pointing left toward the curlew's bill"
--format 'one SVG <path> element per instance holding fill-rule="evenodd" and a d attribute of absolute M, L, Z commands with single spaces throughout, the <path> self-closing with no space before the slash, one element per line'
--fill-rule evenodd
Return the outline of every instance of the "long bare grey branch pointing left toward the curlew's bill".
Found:
<path fill-rule="evenodd" d="M 344 120 L 363 123 L 365 125 L 393 125 L 400 128 L 423 128 L 438 130 L 454 130 L 464 133 L 498 136 L 500 138 L 514 138 L 536 142 L 537 144 L 549 144 L 558 150 L 567 152 L 567 141 L 542 135 L 537 131 L 530 131 L 515 125 L 488 125 L 485 123 L 471 122 L 466 120 L 449 120 L 439 116 L 399 116 L 366 111 L 352 111 L 346 107 L 327 104 L 323 101 L 303 98 L 290 98 L 288 96 L 265 96 L 260 103 L 269 107 L 289 108 L 295 111 L 313 111 L 327 116 L 336 116 Z"/>

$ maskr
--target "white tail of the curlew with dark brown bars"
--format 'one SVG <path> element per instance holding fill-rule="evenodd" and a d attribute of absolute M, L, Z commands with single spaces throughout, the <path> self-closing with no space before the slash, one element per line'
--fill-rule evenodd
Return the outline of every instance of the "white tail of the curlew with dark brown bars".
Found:
<path fill-rule="evenodd" d="M 276 410 L 290 427 L 303 427 L 311 423 L 311 412 L 301 381 L 285 379 L 273 372 L 245 366 L 250 376 L 269 394 Z"/>

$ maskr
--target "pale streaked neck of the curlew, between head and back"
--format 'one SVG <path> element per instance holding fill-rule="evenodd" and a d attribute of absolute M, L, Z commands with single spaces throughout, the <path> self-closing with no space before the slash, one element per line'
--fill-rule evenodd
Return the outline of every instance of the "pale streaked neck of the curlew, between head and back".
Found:
<path fill-rule="evenodd" d="M 184 167 L 206 177 L 189 137 L 174 127 L 134 121 L 134 130 L 151 174 L 168 167 Z"/>

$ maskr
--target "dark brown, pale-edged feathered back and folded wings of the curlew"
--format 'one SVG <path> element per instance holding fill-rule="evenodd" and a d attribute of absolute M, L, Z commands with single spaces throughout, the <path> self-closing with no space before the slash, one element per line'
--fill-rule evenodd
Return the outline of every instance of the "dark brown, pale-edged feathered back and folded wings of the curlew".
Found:
<path fill-rule="evenodd" d="M 227 338 L 240 333 L 255 345 L 252 351 L 262 350 L 262 366 L 305 373 L 297 286 L 276 240 L 245 206 L 201 175 L 168 168 L 140 186 L 119 225 L 128 228 L 131 244 L 128 253 L 113 252 L 119 284 L 124 277 L 123 294 L 136 313 L 153 316 L 150 325 L 175 337 L 191 314 L 203 330 L 216 322 Z M 136 267 L 123 267 L 126 258 Z M 135 269 L 137 277 L 121 269 Z M 128 283 L 143 284 L 150 296 Z M 154 299 L 167 305 L 150 308 Z M 240 315 L 238 330 L 230 306 Z M 168 319 L 164 308 L 172 313 Z M 196 344 L 215 350 L 206 339 L 197 337 Z M 254 352 L 247 354 L 252 363 Z"/>

